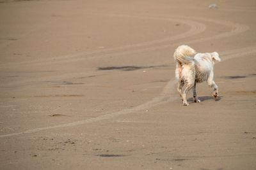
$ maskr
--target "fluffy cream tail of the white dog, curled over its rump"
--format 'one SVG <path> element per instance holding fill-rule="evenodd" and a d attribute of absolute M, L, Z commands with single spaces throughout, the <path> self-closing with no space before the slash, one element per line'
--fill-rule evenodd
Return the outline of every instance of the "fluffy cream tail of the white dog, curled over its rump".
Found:
<path fill-rule="evenodd" d="M 195 55 L 196 52 L 188 45 L 180 45 L 174 52 L 174 59 L 180 64 L 186 64 L 191 62 L 191 55 Z"/>

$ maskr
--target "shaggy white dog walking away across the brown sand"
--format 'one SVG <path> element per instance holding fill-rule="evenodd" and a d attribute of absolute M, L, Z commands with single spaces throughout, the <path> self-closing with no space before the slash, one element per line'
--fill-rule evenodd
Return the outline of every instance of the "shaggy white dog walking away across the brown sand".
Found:
<path fill-rule="evenodd" d="M 195 55 L 195 57 L 193 57 Z M 218 97 L 218 85 L 213 81 L 213 68 L 215 61 L 220 61 L 217 52 L 196 53 L 188 45 L 180 45 L 173 55 L 176 64 L 175 77 L 178 80 L 177 91 L 180 94 L 184 106 L 188 106 L 186 95 L 189 90 L 193 89 L 195 103 L 200 103 L 196 94 L 196 83 L 207 81 L 209 87 L 213 89 L 212 96 Z M 182 92 L 182 87 L 185 89 Z"/>

